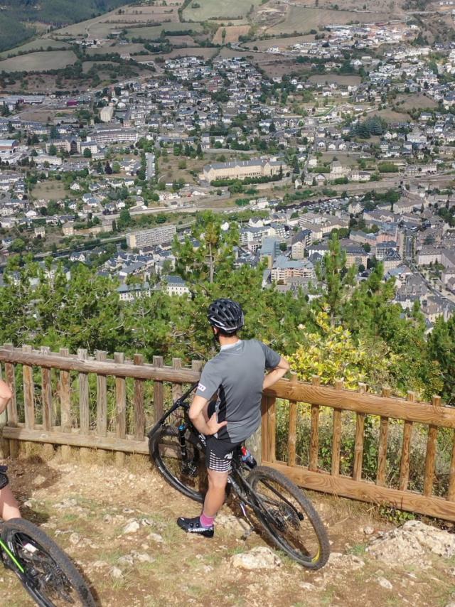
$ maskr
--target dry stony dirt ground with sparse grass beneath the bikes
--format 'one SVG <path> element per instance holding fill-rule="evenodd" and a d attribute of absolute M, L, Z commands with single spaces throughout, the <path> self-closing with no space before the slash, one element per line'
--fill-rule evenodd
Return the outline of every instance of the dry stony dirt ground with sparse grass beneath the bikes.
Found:
<path fill-rule="evenodd" d="M 403 559 L 393 567 L 365 552 L 365 530 L 375 535 L 390 527 L 369 505 L 311 494 L 331 540 L 326 567 L 310 573 L 277 552 L 280 566 L 244 571 L 232 566 L 232 556 L 269 544 L 256 532 L 242 539 L 229 505 L 213 539 L 184 535 L 176 517 L 198 514 L 198 504 L 167 485 L 145 458 L 127 458 L 124 468 L 63 463 L 58 455 L 9 466 L 23 515 L 70 554 L 104 607 L 442 607 L 454 596 L 449 560 L 434 557 L 416 569 Z M 130 522 L 137 529 L 125 533 Z M 32 605 L 13 574 L 0 575 L 5 605 Z"/>

